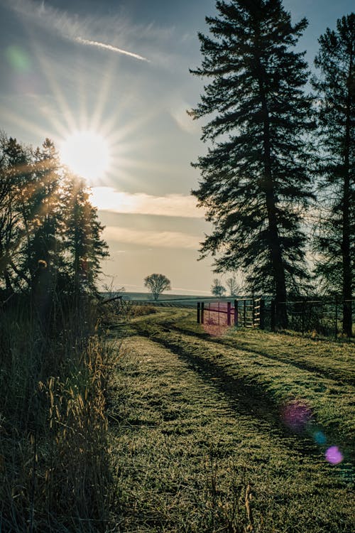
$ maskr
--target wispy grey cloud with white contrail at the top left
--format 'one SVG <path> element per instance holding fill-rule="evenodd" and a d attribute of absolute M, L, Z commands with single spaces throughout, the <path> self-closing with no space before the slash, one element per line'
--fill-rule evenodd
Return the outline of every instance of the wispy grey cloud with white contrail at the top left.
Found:
<path fill-rule="evenodd" d="M 98 21 L 97 18 L 90 18 L 89 16 L 70 16 L 67 11 L 61 11 L 55 9 L 52 6 L 48 6 L 44 1 L 38 2 L 33 0 L 12 0 L 9 5 L 13 11 L 16 11 L 21 16 L 26 17 L 28 20 L 32 20 L 46 30 L 55 31 L 60 37 L 65 38 L 75 43 L 81 43 L 82 45 L 96 46 L 98 48 L 104 48 L 114 53 L 129 55 L 132 58 L 148 61 L 142 55 L 118 48 L 112 44 L 101 42 L 97 38 L 99 26 L 109 29 L 111 33 L 112 18 L 102 18 Z M 101 23 L 101 24 L 100 24 Z M 116 25 L 116 31 L 114 35 L 123 35 L 126 28 L 123 20 L 117 20 L 114 17 L 114 23 Z M 100 30 L 101 31 L 101 30 Z M 90 37 L 90 38 L 88 38 Z"/>

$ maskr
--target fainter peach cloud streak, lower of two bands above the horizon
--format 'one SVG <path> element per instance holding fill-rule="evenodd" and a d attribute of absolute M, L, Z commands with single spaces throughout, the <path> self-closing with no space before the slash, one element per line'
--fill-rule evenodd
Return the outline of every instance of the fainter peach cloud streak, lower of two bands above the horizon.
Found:
<path fill-rule="evenodd" d="M 127 244 L 143 244 L 152 248 L 187 248 L 197 249 L 199 238 L 182 232 L 154 232 L 132 230 L 126 227 L 107 226 L 103 237 L 107 241 Z"/>

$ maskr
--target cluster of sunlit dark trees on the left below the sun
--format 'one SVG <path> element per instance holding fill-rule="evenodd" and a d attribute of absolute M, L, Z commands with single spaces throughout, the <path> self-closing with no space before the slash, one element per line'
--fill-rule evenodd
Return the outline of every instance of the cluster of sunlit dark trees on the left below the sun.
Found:
<path fill-rule="evenodd" d="M 108 255 L 103 227 L 81 178 L 40 148 L 0 136 L 0 301 L 14 294 L 92 294 Z"/>

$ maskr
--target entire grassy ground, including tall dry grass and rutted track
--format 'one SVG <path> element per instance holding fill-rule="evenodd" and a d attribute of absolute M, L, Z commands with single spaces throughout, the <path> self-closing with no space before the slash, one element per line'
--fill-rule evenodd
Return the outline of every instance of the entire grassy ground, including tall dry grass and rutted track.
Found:
<path fill-rule="evenodd" d="M 354 530 L 354 344 L 32 311 L 1 311 L 1 533 Z"/>

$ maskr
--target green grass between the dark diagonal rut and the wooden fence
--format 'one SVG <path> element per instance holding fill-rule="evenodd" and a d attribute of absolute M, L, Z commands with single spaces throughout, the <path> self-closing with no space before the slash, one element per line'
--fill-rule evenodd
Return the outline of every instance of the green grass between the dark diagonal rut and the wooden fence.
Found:
<path fill-rule="evenodd" d="M 138 330 L 209 372 L 256 389 L 275 411 L 290 401 L 307 404 L 313 426 L 318 424 L 337 443 L 354 450 L 354 344 L 234 328 L 211 338 L 193 323 L 193 313 L 185 316 L 175 323 L 163 319 L 160 328 L 151 319 L 139 323 Z"/>

